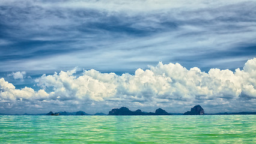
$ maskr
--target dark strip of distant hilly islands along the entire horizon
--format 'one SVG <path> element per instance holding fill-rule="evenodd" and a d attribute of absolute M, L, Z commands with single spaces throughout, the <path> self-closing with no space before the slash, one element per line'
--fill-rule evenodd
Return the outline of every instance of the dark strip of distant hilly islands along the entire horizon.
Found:
<path fill-rule="evenodd" d="M 0 115 L 12 115 L 12 114 L 6 114 L 6 113 L 0 113 Z M 19 114 L 15 114 L 19 115 Z M 28 114 L 24 113 L 23 115 L 91 115 L 89 113 L 86 113 L 84 111 L 78 111 L 78 112 L 49 112 L 49 113 L 39 113 L 39 114 Z M 95 113 L 94 115 L 107 115 L 105 113 Z M 138 109 L 135 111 L 129 110 L 127 107 L 121 107 L 120 109 L 112 109 L 109 111 L 108 115 L 256 115 L 256 112 L 232 112 L 232 113 L 204 113 L 203 107 L 200 105 L 194 106 L 191 108 L 190 111 L 184 112 L 184 113 L 168 113 L 165 110 L 159 108 L 156 109 L 156 111 L 153 112 L 142 112 L 142 110 Z"/>

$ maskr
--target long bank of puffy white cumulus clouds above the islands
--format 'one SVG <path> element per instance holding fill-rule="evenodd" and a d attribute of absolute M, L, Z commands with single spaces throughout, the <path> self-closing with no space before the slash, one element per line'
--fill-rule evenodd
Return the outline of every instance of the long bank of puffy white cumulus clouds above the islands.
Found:
<path fill-rule="evenodd" d="M 169 112 L 184 112 L 187 107 L 201 104 L 214 109 L 212 112 L 232 112 L 242 107 L 243 111 L 256 110 L 256 58 L 249 59 L 242 70 L 237 68 L 235 72 L 212 68 L 206 73 L 197 67 L 187 70 L 178 63 L 159 62 L 147 70 L 139 68 L 134 75 L 84 70 L 78 76 L 74 69 L 43 74 L 35 82 L 41 88 L 39 91 L 28 87 L 16 89 L 1 78 L 0 109 L 34 106 L 42 110 L 49 104 L 58 104 L 63 109 L 127 105 L 142 109 L 162 106 Z"/>

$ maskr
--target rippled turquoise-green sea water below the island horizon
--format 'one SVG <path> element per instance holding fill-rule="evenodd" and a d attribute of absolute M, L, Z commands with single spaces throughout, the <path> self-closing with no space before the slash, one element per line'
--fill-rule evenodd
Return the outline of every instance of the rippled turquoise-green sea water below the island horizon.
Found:
<path fill-rule="evenodd" d="M 0 143 L 256 143 L 256 115 L 0 116 Z"/>

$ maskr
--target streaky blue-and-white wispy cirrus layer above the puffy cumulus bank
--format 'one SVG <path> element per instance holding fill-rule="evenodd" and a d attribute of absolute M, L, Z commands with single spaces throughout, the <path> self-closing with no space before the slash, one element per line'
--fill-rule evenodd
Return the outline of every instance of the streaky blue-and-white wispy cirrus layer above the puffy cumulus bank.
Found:
<path fill-rule="evenodd" d="M 255 56 L 254 7 L 254 1 L 2 1 L 1 38 L 12 43 L 2 47 L 0 65 L 125 72 L 163 61 L 234 70 Z"/>

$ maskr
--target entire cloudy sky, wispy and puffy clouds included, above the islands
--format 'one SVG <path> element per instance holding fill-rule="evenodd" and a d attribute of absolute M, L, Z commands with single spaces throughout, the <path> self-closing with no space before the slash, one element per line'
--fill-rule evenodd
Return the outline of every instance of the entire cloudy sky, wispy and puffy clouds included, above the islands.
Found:
<path fill-rule="evenodd" d="M 256 111 L 255 1 L 0 1 L 0 113 Z"/>

